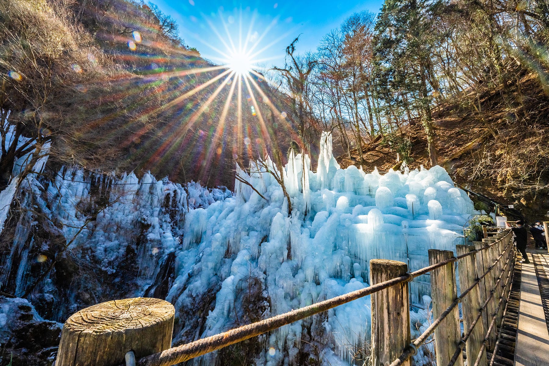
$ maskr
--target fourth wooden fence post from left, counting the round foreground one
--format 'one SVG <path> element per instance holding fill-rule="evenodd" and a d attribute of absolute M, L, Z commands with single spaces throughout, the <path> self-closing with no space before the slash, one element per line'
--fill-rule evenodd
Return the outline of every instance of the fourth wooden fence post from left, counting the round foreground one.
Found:
<path fill-rule="evenodd" d="M 457 255 L 466 254 L 475 249 L 472 245 L 456 245 Z M 464 257 L 457 264 L 457 272 L 460 277 L 461 292 L 468 289 L 477 279 L 477 260 L 475 254 Z M 471 324 L 477 318 L 482 303 L 480 302 L 480 283 L 474 286 L 472 290 L 464 297 L 462 301 L 463 313 L 463 332 L 466 333 Z M 484 332 L 484 333 L 483 333 Z M 484 342 L 486 332 L 483 327 L 483 319 L 479 319 L 475 324 L 469 339 L 466 342 L 466 354 L 468 360 L 474 360 L 480 352 L 480 348 Z M 468 362 L 468 364 L 470 361 Z M 478 366 L 486 366 L 486 356 L 480 359 Z"/>

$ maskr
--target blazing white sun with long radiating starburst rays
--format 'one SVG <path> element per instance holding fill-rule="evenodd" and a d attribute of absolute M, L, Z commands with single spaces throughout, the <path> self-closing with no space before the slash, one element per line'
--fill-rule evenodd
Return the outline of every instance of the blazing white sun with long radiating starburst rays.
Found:
<path fill-rule="evenodd" d="M 265 149 L 271 151 L 272 132 L 266 122 L 271 123 L 272 116 L 279 126 L 294 134 L 286 122 L 285 112 L 270 100 L 273 94 L 265 92 L 268 87 L 264 85 L 263 67 L 280 58 L 267 58 L 264 54 L 292 30 L 279 37 L 269 37 L 277 18 L 258 32 L 255 24 L 257 13 L 254 13 L 247 30 L 243 31 L 242 18 L 242 10 L 239 15 L 238 10 L 229 16 L 225 16 L 222 10 L 216 16 L 204 15 L 203 25 L 210 27 L 219 42 L 212 45 L 202 40 L 204 46 L 213 52 L 208 54 L 205 49 L 204 58 L 198 58 L 198 53 L 191 50 L 167 50 L 180 53 L 181 67 L 163 67 L 167 58 L 161 57 L 161 53 L 139 53 L 142 44 L 154 46 L 141 33 L 134 32 L 127 40 L 131 52 L 125 54 L 125 59 L 148 60 L 151 66 L 146 77 L 132 77 L 119 82 L 128 85 L 127 93 L 130 95 L 139 93 L 139 88 L 131 86 L 147 84 L 154 87 L 164 100 L 160 106 L 144 110 L 140 121 L 154 121 L 159 115 L 180 121 L 155 127 L 158 128 L 156 136 L 162 137 L 160 144 L 154 139 L 138 143 L 139 147 L 133 154 L 143 156 L 139 159 L 146 161 L 146 165 L 171 165 L 174 156 L 188 155 L 184 159 L 193 162 L 197 171 L 209 172 L 213 166 L 219 165 L 223 155 L 232 156 L 237 161 L 257 157 Z M 216 26 L 221 27 L 217 29 Z M 199 39 L 198 36 L 195 38 Z M 131 149 L 136 141 L 150 134 L 151 126 L 144 123 L 135 128 L 132 136 L 120 143 L 121 147 Z M 131 128 L 133 125 L 125 127 L 134 129 Z M 227 144 L 228 138 L 232 140 L 231 144 Z M 226 151 L 229 147 L 232 151 Z M 194 155 L 189 155 L 188 151 L 193 151 Z M 178 169 L 178 166 L 174 167 L 173 174 L 177 174 Z"/>

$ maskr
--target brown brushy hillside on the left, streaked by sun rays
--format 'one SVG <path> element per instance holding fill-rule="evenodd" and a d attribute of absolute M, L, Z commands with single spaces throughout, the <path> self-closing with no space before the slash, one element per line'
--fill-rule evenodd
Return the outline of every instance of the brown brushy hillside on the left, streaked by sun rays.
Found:
<path fill-rule="evenodd" d="M 259 74 L 248 77 L 253 92 L 237 92 L 234 71 L 186 46 L 152 3 L 8 0 L 0 20 L 0 190 L 35 145 L 53 171 L 230 187 L 235 161 L 270 151 L 270 134 L 295 135 L 284 95 Z"/>

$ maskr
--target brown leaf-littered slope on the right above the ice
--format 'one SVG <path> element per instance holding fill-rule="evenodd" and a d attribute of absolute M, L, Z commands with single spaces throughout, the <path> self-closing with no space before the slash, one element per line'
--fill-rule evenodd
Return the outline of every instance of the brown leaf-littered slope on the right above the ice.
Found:
<path fill-rule="evenodd" d="M 518 101 L 518 102 L 517 102 Z M 480 108 L 479 108 L 480 106 Z M 452 179 L 527 218 L 549 211 L 549 98 L 537 76 L 523 75 L 500 89 L 467 89 L 435 111 L 439 165 Z M 430 167 L 427 137 L 413 120 L 397 132 L 411 142 L 410 168 Z M 365 171 L 388 171 L 396 148 L 378 138 L 366 146 Z M 357 164 L 338 157 L 342 167 Z"/>

